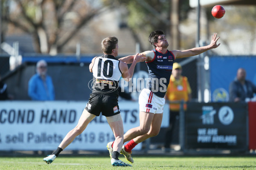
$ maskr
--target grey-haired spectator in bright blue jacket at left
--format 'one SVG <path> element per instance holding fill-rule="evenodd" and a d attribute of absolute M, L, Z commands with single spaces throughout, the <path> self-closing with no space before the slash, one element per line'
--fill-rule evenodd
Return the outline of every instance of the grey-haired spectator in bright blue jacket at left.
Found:
<path fill-rule="evenodd" d="M 28 94 L 32 100 L 54 100 L 55 91 L 52 78 L 47 75 L 47 62 L 40 60 L 36 64 L 37 74 L 29 80 Z"/>

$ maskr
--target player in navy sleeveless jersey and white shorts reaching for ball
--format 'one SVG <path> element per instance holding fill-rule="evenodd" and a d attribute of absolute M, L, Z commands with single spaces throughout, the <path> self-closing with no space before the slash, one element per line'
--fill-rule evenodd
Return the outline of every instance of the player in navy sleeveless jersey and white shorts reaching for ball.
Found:
<path fill-rule="evenodd" d="M 131 157 L 131 150 L 138 143 L 150 137 L 157 136 L 160 131 L 163 119 L 163 106 L 165 104 L 164 96 L 172 74 L 174 60 L 195 56 L 212 48 L 217 48 L 220 45 L 217 44 L 218 39 L 217 34 L 213 34 L 209 45 L 183 51 L 169 51 L 167 50 L 169 44 L 163 31 L 157 30 L 151 32 L 148 41 L 154 47 L 154 50 L 142 53 L 143 57 L 146 57 L 149 79 L 147 81 L 147 87 L 141 91 L 139 96 L 140 126 L 134 127 L 125 133 L 124 142 L 129 142 L 122 147 L 120 152 L 128 161 L 131 163 L 134 162 Z M 108 143 L 110 153 L 111 144 L 113 142 Z"/>

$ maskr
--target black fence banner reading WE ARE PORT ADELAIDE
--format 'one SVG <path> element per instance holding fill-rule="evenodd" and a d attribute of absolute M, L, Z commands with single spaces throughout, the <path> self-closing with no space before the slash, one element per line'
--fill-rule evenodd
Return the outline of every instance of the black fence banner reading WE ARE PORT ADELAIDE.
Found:
<path fill-rule="evenodd" d="M 247 103 L 190 102 L 185 149 L 247 149 Z"/>

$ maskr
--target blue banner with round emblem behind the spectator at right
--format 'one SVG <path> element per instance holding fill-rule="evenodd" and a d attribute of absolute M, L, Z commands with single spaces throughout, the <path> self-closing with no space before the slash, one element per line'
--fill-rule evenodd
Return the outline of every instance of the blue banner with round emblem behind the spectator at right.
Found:
<path fill-rule="evenodd" d="M 256 56 L 225 56 L 210 58 L 210 90 L 212 102 L 227 102 L 229 85 L 239 68 L 246 70 L 246 79 L 256 84 Z"/>

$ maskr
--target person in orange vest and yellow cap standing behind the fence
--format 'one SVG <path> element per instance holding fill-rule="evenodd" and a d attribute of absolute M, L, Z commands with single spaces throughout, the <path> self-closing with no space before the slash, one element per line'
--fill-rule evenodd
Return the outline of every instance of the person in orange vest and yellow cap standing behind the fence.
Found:
<path fill-rule="evenodd" d="M 181 75 L 182 68 L 177 62 L 173 63 L 172 75 L 170 77 L 170 83 L 166 92 L 166 100 L 170 102 L 177 102 L 183 100 L 187 102 L 191 99 L 191 88 L 187 77 Z M 186 104 L 184 105 L 186 110 Z M 166 152 L 170 151 L 170 144 L 172 143 L 173 130 L 175 122 L 178 119 L 180 113 L 180 104 L 170 104 L 170 115 L 169 115 L 169 127 L 166 129 L 164 149 Z"/>

